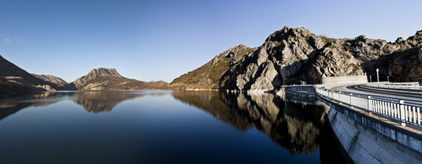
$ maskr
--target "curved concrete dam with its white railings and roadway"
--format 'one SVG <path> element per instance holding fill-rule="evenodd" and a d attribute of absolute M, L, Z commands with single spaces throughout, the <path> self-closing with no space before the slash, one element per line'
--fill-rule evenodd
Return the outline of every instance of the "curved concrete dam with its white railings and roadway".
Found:
<path fill-rule="evenodd" d="M 314 92 L 330 108 L 333 132 L 354 163 L 422 163 L 422 103 L 418 99 L 406 95 L 393 99 L 372 95 L 374 91 L 358 94 L 351 87 L 357 84 L 321 86 L 314 87 Z M 310 88 L 303 89 L 309 92 Z"/>

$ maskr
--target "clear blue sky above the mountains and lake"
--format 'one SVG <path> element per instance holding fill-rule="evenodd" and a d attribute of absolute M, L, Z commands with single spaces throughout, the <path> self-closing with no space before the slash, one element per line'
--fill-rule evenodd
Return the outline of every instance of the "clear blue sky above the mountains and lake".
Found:
<path fill-rule="evenodd" d="M 171 82 L 284 26 L 395 42 L 422 30 L 422 1 L 3 1 L 0 55 L 72 82 L 94 68 Z"/>

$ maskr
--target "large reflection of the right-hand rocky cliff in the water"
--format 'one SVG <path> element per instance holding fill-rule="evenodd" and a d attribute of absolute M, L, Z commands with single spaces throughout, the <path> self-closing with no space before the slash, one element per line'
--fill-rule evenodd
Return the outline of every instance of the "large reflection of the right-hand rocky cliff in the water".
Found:
<path fill-rule="evenodd" d="M 283 101 L 274 94 L 174 92 L 173 96 L 238 130 L 255 126 L 294 154 L 318 150 L 317 139 L 328 114 L 324 106 Z"/>

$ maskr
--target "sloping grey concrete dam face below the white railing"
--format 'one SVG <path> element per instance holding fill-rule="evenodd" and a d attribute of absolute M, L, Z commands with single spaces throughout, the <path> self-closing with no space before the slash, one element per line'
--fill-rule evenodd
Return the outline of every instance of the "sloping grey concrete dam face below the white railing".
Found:
<path fill-rule="evenodd" d="M 422 163 L 420 134 L 327 101 L 331 127 L 354 163 Z"/>

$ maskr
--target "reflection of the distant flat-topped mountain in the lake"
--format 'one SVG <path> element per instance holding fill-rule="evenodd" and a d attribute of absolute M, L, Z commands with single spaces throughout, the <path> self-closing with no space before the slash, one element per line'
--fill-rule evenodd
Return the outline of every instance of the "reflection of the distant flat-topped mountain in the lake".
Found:
<path fill-rule="evenodd" d="M 117 103 L 127 99 L 134 99 L 141 94 L 128 94 L 128 92 L 101 91 L 101 92 L 75 92 L 73 102 L 84 107 L 91 113 L 110 112 Z"/>

